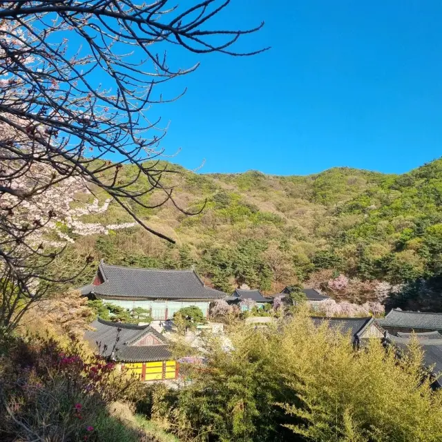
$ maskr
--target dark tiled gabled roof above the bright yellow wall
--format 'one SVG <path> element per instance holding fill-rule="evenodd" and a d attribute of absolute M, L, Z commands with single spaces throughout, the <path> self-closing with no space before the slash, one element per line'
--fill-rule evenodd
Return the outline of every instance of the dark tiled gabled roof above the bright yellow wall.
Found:
<path fill-rule="evenodd" d="M 166 361 L 172 357 L 168 341 L 150 325 L 112 323 L 98 318 L 84 338 L 102 356 L 112 356 L 116 361 L 153 362 Z M 161 345 L 132 345 L 146 334 L 153 334 Z"/>

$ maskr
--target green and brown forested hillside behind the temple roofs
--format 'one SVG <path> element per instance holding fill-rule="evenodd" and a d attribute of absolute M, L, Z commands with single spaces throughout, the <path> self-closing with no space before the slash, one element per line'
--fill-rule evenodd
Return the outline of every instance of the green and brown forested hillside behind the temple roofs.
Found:
<path fill-rule="evenodd" d="M 245 283 L 272 293 L 303 283 L 357 302 L 364 294 L 441 272 L 442 159 L 403 175 L 349 168 L 284 177 L 257 171 L 200 174 L 165 163 L 157 168 L 164 166 L 175 172 L 163 174 L 163 182 L 175 186 L 177 206 L 195 212 L 205 204 L 202 212 L 185 215 L 171 202 L 156 209 L 134 206 L 140 219 L 171 236 L 175 245 L 141 227 L 82 236 L 62 226 L 75 244 L 59 265 L 88 254 L 94 258 L 76 282 L 90 282 L 96 262 L 104 258 L 140 267 L 195 265 L 224 291 Z M 127 182 L 134 174 L 131 166 L 123 166 L 119 177 Z M 92 198 L 77 197 L 79 205 Z M 160 201 L 153 193 L 145 202 Z M 81 221 L 131 219 L 113 203 Z"/>

